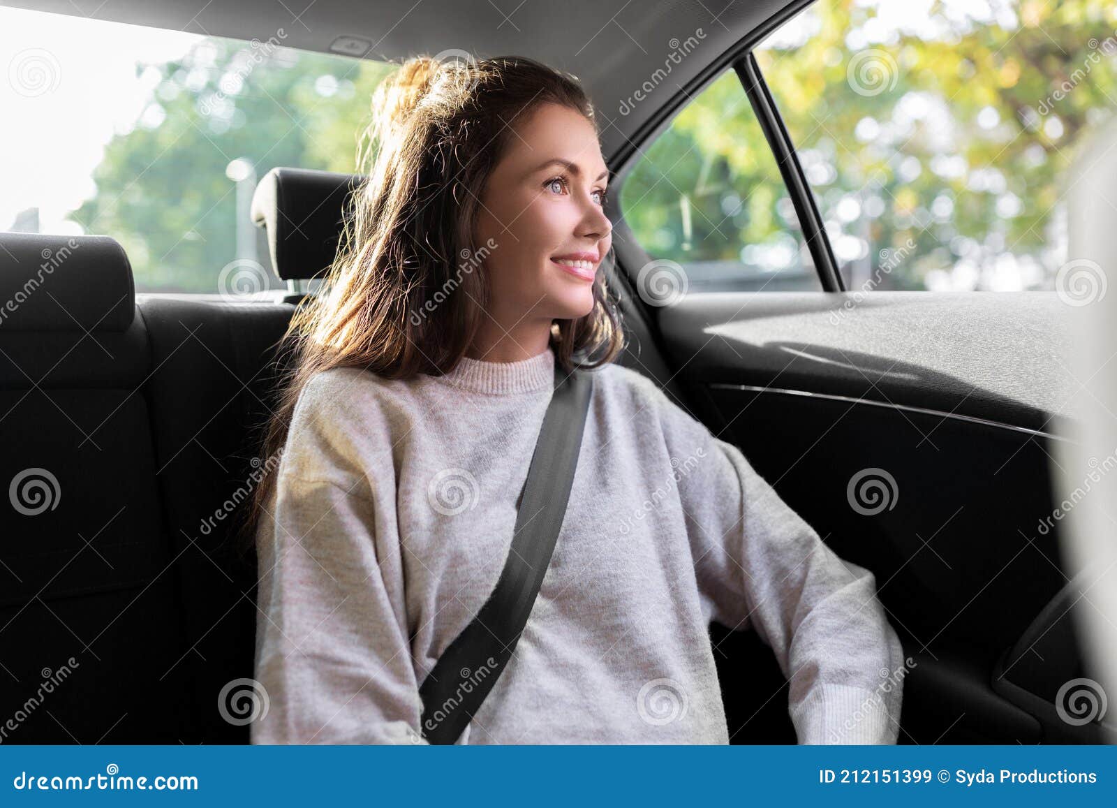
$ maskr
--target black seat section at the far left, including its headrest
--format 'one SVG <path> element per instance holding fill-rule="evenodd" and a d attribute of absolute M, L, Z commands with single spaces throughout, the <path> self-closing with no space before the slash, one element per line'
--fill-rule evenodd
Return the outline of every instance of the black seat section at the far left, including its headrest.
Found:
<path fill-rule="evenodd" d="M 111 238 L 0 234 L 7 743 L 180 738 L 178 581 L 134 298 Z"/>

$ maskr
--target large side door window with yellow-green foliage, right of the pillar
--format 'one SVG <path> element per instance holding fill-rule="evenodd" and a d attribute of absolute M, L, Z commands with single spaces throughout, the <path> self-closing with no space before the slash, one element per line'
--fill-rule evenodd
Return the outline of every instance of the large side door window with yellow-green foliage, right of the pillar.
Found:
<path fill-rule="evenodd" d="M 819 0 L 763 42 L 847 288 L 1056 288 L 1115 28 L 1081 0 Z"/>

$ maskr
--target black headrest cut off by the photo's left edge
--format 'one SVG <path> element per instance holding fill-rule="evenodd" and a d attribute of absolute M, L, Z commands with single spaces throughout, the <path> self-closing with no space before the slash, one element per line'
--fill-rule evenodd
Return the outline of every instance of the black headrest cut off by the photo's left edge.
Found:
<path fill-rule="evenodd" d="M 135 284 L 108 236 L 0 232 L 0 333 L 126 331 Z"/>

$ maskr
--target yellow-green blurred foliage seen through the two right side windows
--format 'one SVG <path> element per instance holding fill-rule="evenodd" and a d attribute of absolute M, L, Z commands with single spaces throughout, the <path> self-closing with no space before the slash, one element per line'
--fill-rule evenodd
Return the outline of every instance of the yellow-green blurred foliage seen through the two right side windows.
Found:
<path fill-rule="evenodd" d="M 1115 28 L 1117 8 L 1087 0 L 820 0 L 762 44 L 847 284 L 1051 288 L 1066 260 L 1061 178 L 1117 108 Z M 653 257 L 787 266 L 755 249 L 795 222 L 744 99 L 722 76 L 622 190 Z"/>

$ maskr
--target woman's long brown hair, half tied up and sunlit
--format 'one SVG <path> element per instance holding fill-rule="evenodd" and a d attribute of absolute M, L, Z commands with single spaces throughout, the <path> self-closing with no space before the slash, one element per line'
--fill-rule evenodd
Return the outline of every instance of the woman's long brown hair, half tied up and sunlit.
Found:
<path fill-rule="evenodd" d="M 319 371 L 364 368 L 409 379 L 458 364 L 488 301 L 484 269 L 461 272 L 458 260 L 485 255 L 474 244 L 478 200 L 517 120 L 545 103 L 582 113 L 600 133 L 577 80 L 525 57 L 443 63 L 420 56 L 376 87 L 373 120 L 356 153 L 366 179 L 351 194 L 344 234 L 318 293 L 296 310 L 279 341 L 277 354 L 290 371 L 264 425 L 262 458 L 285 446 L 299 392 Z M 426 305 L 439 293 L 438 306 Z M 603 365 L 623 350 L 620 316 L 601 270 L 593 298 L 585 316 L 552 324 L 551 348 L 566 372 Z M 241 553 L 251 546 L 274 485 L 269 473 L 247 503 Z"/>

